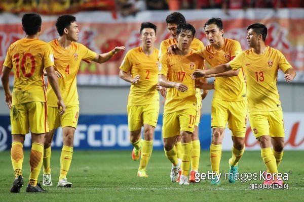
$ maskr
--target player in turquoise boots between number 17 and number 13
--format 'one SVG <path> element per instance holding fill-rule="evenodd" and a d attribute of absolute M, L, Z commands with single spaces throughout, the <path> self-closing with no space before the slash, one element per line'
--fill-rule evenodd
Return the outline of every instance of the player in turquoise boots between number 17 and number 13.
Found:
<path fill-rule="evenodd" d="M 223 37 L 223 23 L 220 18 L 211 18 L 205 23 L 206 37 L 210 42 L 198 54 L 212 67 L 225 64 L 233 60 L 242 52 L 241 44 Z M 245 133 L 247 122 L 246 83 L 243 71 L 230 70 L 215 76 L 214 95 L 211 106 L 212 141 L 210 145 L 211 168 L 219 173 L 221 159 L 221 145 L 224 129 L 228 127 L 232 132 L 232 158 L 229 160 L 229 182 L 235 182 L 238 172 L 238 162 L 245 150 Z M 207 76 L 210 77 L 210 76 Z M 219 184 L 215 179 L 211 184 Z"/>

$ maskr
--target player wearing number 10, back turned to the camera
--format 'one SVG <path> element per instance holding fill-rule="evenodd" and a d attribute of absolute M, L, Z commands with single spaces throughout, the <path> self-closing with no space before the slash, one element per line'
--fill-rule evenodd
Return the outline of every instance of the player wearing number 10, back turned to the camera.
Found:
<path fill-rule="evenodd" d="M 24 14 L 22 29 L 26 37 L 10 45 L 2 71 L 2 84 L 5 100 L 11 110 L 13 143 L 11 160 L 15 171 L 12 193 L 19 193 L 23 186 L 22 163 L 25 134 L 31 132 L 32 147 L 29 155 L 29 182 L 26 192 L 46 192 L 37 179 L 43 161 L 43 141 L 49 131 L 47 120 L 47 100 L 43 77 L 47 72 L 50 84 L 54 88 L 56 108 L 62 115 L 65 105 L 59 91 L 57 76 L 54 70 L 54 59 L 51 46 L 39 40 L 41 17 L 38 14 Z M 13 95 L 9 88 L 9 73 L 15 69 Z"/>

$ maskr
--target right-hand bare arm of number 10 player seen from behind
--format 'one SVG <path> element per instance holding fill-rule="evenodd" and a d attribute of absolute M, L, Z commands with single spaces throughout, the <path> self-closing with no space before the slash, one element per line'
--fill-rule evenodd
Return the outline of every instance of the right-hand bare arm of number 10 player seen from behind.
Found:
<path fill-rule="evenodd" d="M 59 110 L 59 107 L 62 108 L 59 111 L 59 114 L 63 115 L 65 112 L 65 105 L 64 105 L 62 97 L 61 97 L 61 93 L 60 93 L 60 89 L 59 89 L 59 85 L 58 85 L 57 74 L 54 70 L 54 66 L 50 66 L 50 67 L 46 68 L 46 71 L 47 71 L 48 81 L 50 82 L 52 89 L 54 90 L 56 97 L 58 99 L 58 102 L 57 102 L 58 110 Z"/>

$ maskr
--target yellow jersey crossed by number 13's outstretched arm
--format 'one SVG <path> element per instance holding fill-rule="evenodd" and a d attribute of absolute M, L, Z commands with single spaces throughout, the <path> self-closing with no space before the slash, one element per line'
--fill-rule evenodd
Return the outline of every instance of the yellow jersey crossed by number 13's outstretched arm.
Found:
<path fill-rule="evenodd" d="M 212 45 L 207 45 L 197 53 L 205 59 L 211 67 L 226 64 L 242 52 L 241 44 L 232 39 L 224 39 L 224 45 L 218 50 Z M 246 82 L 243 71 L 238 76 L 216 77 L 214 80 L 213 97 L 226 101 L 246 100 Z"/>

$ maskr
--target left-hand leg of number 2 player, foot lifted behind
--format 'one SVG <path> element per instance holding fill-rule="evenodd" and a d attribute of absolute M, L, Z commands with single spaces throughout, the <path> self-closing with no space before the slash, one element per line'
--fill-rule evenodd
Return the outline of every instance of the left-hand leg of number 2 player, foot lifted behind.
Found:
<path fill-rule="evenodd" d="M 141 139 L 142 106 L 128 105 L 128 126 L 130 131 L 130 143 L 133 145 L 132 159 L 137 161 L 140 157 L 143 140 Z"/>

